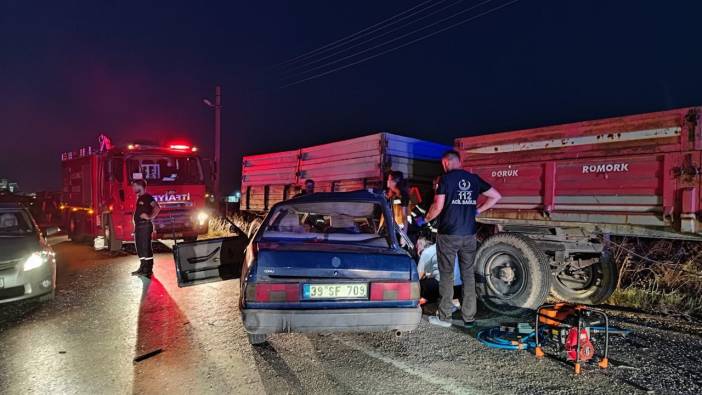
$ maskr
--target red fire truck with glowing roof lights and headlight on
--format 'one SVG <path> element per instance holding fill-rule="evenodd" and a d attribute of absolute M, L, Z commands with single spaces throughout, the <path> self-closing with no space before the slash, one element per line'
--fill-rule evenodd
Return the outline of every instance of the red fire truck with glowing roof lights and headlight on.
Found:
<path fill-rule="evenodd" d="M 113 146 L 100 136 L 100 147 L 61 156 L 63 190 L 60 209 L 71 240 L 103 236 L 110 250 L 133 242 L 136 195 L 130 183 L 143 179 L 161 206 L 154 237 L 195 240 L 207 233 L 207 172 L 197 147 L 188 144 Z"/>

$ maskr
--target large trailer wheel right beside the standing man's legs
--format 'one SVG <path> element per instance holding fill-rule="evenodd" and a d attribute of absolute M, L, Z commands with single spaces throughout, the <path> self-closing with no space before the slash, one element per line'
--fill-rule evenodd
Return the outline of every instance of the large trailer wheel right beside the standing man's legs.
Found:
<path fill-rule="evenodd" d="M 521 316 L 541 306 L 551 287 L 546 255 L 519 235 L 488 238 L 475 257 L 476 289 L 490 310 Z"/>

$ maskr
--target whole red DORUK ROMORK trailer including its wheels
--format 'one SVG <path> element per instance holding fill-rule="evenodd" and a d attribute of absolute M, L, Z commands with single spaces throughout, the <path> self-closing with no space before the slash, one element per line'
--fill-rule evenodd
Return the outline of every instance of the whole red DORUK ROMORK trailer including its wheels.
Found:
<path fill-rule="evenodd" d="M 610 235 L 702 240 L 701 108 L 456 139 L 504 198 L 480 216 L 486 305 L 534 308 L 549 287 L 599 303 L 617 284 Z"/>

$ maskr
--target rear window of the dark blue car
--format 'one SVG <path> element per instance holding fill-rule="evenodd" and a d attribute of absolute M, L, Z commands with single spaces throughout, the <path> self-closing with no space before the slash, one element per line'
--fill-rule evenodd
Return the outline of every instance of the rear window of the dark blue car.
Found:
<path fill-rule="evenodd" d="M 383 209 L 373 202 L 287 203 L 269 216 L 263 241 L 390 246 Z"/>

